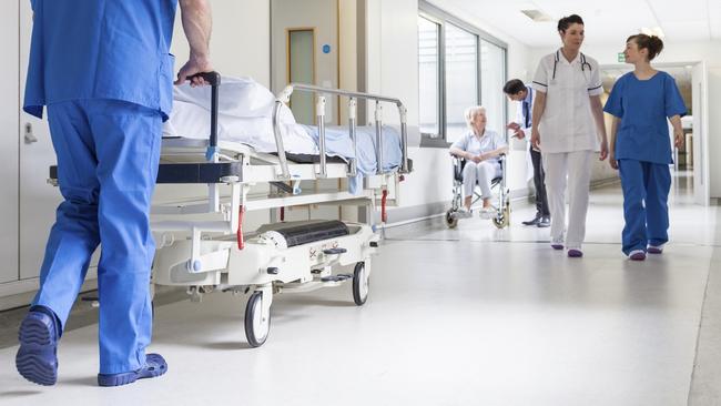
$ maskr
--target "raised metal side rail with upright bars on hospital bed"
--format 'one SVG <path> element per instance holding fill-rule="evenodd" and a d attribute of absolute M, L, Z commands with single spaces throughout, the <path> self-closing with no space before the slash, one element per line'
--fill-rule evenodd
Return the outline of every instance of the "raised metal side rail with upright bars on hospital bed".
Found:
<path fill-rule="evenodd" d="M 313 84 L 304 83 L 291 83 L 278 94 L 275 101 L 275 109 L 273 110 L 273 134 L 275 136 L 275 144 L 278 151 L 278 158 L 281 161 L 281 171 L 283 179 L 290 179 L 291 173 L 288 172 L 287 159 L 285 156 L 285 149 L 283 146 L 283 138 L 281 136 L 280 128 L 280 113 L 281 108 L 284 103 L 291 101 L 291 94 L 294 91 L 304 91 L 317 94 L 316 98 L 316 116 L 318 122 L 318 150 L 321 159 L 321 169 L 318 177 L 325 177 L 327 174 L 327 163 L 326 163 L 326 151 L 325 151 L 325 98 L 326 94 L 334 95 L 344 95 L 348 100 L 348 134 L 353 141 L 353 150 L 357 156 L 357 141 L 356 141 L 356 108 L 357 100 L 374 100 L 376 102 L 375 109 L 375 128 L 376 128 L 376 161 L 377 161 L 377 173 L 383 174 L 383 105 L 382 102 L 393 103 L 398 109 L 398 114 L 400 116 L 400 140 L 402 140 L 402 151 L 403 151 L 403 161 L 400 166 L 400 173 L 408 173 L 408 130 L 407 130 L 407 110 L 406 106 L 399 99 L 388 98 L 385 95 L 372 94 L 372 93 L 362 93 L 362 92 L 352 92 L 339 89 L 329 89 L 323 87 L 316 87 Z M 355 176 L 357 173 L 357 158 L 351 160 L 351 175 Z"/>

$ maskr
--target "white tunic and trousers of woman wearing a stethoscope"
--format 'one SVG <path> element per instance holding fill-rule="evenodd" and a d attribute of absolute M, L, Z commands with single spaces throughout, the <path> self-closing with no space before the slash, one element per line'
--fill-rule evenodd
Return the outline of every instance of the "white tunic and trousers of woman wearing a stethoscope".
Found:
<path fill-rule="evenodd" d="M 590 97 L 603 93 L 598 62 L 583 53 L 569 62 L 558 50 L 541 59 L 534 89 L 546 93 L 538 131 L 551 211 L 551 243 L 581 248 L 586 237 L 591 159 L 598 150 Z M 569 219 L 565 236 L 567 185 Z"/>

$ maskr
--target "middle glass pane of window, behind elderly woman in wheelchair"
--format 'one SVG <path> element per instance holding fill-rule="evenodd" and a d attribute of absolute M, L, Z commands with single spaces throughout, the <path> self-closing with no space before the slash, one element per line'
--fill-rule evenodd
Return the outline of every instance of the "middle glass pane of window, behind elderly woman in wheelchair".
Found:
<path fill-rule="evenodd" d="M 466 131 L 464 111 L 478 104 L 478 37 L 446 24 L 446 141 Z"/>

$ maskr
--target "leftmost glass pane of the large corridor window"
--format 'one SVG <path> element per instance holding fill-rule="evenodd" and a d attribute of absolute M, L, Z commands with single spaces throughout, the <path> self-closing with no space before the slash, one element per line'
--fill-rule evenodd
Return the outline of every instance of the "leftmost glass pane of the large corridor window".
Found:
<path fill-rule="evenodd" d="M 418 18 L 418 88 L 420 132 L 437 138 L 440 134 L 440 26 Z"/>

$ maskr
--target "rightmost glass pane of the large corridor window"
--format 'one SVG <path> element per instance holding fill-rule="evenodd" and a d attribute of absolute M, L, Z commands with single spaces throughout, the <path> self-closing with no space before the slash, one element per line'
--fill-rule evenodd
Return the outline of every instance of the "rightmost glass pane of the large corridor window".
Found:
<path fill-rule="evenodd" d="M 506 133 L 506 51 L 490 42 L 480 40 L 480 103 L 486 108 L 487 128 Z"/>

